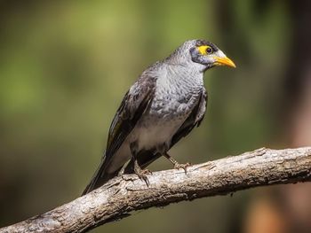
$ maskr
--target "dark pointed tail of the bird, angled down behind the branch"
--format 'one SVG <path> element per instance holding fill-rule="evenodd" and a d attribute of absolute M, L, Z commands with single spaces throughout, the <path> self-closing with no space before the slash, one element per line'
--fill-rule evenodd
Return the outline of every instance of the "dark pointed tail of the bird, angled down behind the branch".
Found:
<path fill-rule="evenodd" d="M 114 173 L 106 173 L 106 164 L 105 164 L 105 159 L 103 158 L 100 163 L 100 167 L 97 168 L 95 174 L 92 176 L 91 182 L 86 186 L 84 189 L 84 192 L 82 193 L 81 196 L 84 196 L 85 194 L 89 193 L 92 190 L 96 190 L 99 188 L 101 185 L 104 183 L 107 183 L 108 180 L 114 178 L 116 175 L 119 174 L 120 169 L 117 169 Z"/>

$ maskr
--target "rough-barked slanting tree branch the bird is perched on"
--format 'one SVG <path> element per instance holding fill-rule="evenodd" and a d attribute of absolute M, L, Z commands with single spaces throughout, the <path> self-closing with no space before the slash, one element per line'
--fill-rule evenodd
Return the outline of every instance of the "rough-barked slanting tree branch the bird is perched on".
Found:
<path fill-rule="evenodd" d="M 124 175 L 98 190 L 50 212 L 0 229 L 0 232 L 85 232 L 133 211 L 195 198 L 279 183 L 311 181 L 311 147 L 261 148 L 180 170 L 148 175 L 149 187 L 136 175 Z"/>

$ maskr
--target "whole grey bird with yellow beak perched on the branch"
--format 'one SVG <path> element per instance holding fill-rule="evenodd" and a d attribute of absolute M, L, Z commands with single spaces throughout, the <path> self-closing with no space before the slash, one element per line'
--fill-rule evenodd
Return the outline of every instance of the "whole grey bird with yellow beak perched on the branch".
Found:
<path fill-rule="evenodd" d="M 204 40 L 187 41 L 149 66 L 116 111 L 104 157 L 83 195 L 120 173 L 135 173 L 148 183 L 145 168 L 161 156 L 175 168 L 187 167 L 167 151 L 203 120 L 207 104 L 203 74 L 214 66 L 235 67 L 235 63 Z"/>

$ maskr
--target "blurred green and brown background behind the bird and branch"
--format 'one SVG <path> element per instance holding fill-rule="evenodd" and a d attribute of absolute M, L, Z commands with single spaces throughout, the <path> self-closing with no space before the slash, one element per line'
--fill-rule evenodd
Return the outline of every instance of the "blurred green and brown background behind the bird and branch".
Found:
<path fill-rule="evenodd" d="M 311 145 L 311 1 L 0 0 L 0 226 L 77 198 L 140 73 L 204 38 L 208 111 L 171 155 L 200 163 Z M 170 168 L 166 159 L 150 168 Z M 152 208 L 92 232 L 310 232 L 308 183 Z"/>

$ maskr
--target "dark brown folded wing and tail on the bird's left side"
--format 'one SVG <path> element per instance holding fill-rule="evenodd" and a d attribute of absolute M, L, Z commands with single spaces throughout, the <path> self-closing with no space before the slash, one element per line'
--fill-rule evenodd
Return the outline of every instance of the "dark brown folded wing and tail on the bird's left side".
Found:
<path fill-rule="evenodd" d="M 124 99 L 116 111 L 108 133 L 108 143 L 105 156 L 101 161 L 100 167 L 92 177 L 91 183 L 84 190 L 84 194 L 100 187 L 119 170 L 113 174 L 105 174 L 116 151 L 124 143 L 125 138 L 131 133 L 138 120 L 148 109 L 156 90 L 156 78 L 148 74 L 142 74 L 140 79 L 135 82 L 132 88 L 125 94 Z M 123 165 L 120 165 L 120 168 Z"/>

